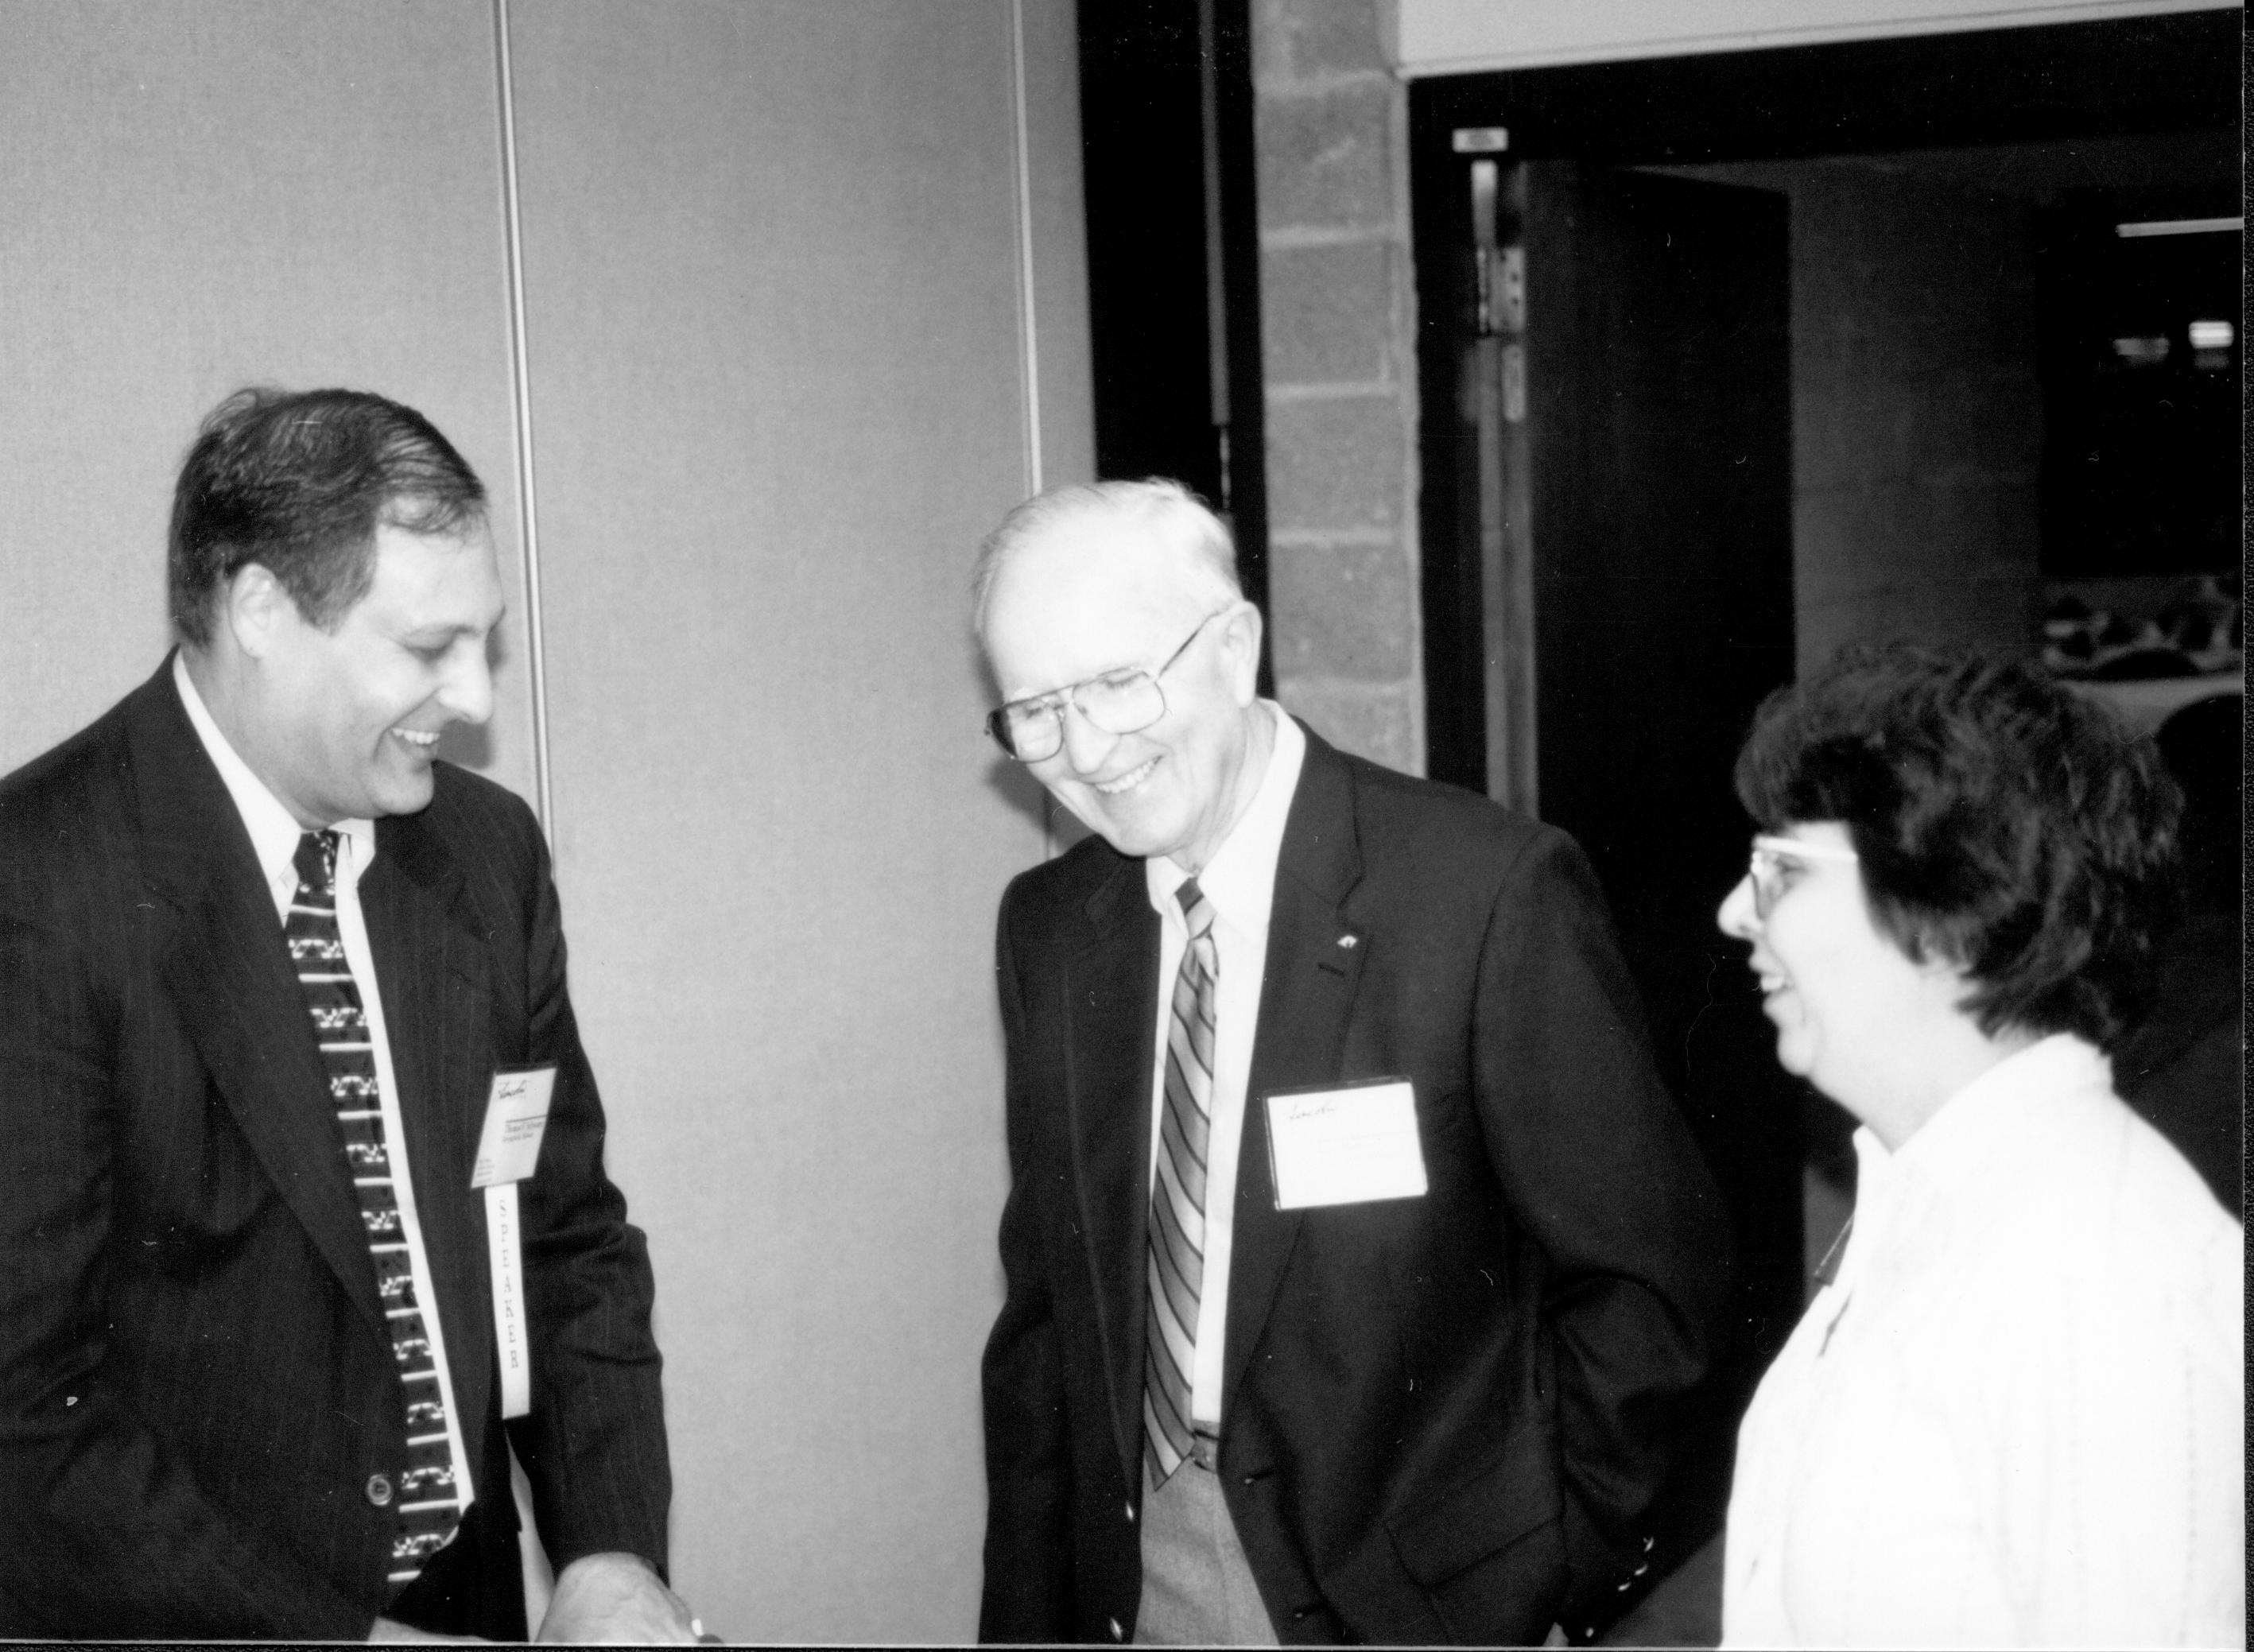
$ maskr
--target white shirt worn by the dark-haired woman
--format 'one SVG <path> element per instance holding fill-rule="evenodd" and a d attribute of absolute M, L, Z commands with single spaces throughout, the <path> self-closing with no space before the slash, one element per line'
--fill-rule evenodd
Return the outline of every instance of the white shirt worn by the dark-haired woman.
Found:
<path fill-rule="evenodd" d="M 1738 1433 L 1724 1645 L 2243 1645 L 2243 1233 L 2042 1039 L 1900 1152 Z"/>

